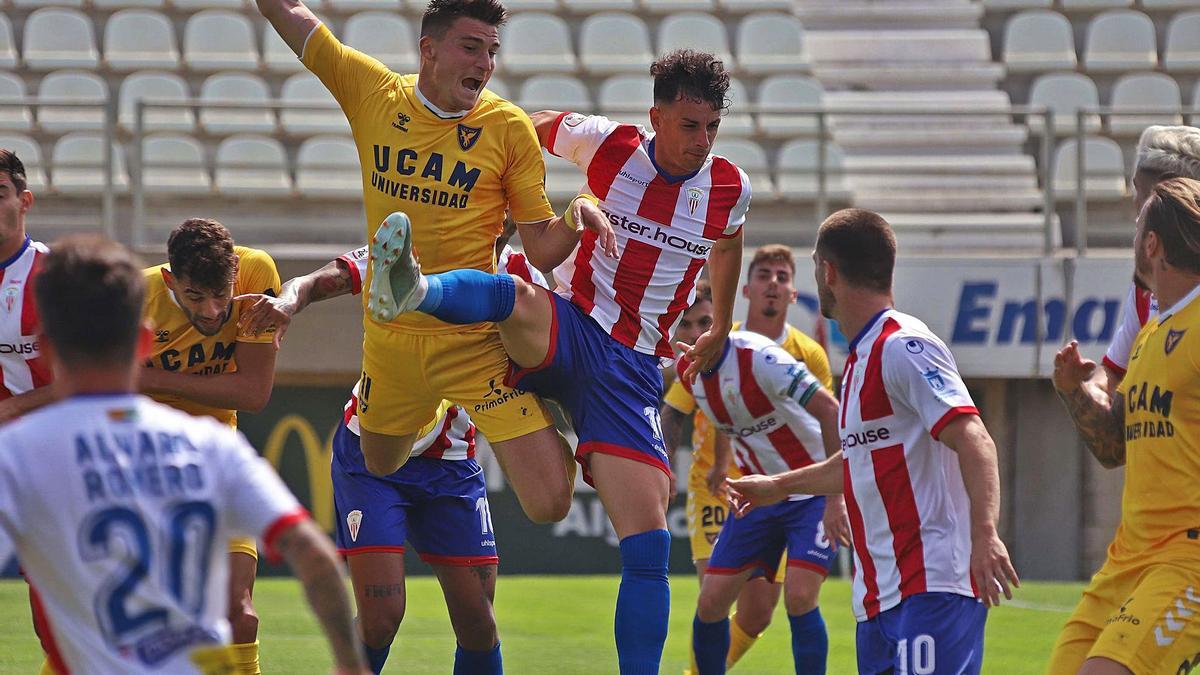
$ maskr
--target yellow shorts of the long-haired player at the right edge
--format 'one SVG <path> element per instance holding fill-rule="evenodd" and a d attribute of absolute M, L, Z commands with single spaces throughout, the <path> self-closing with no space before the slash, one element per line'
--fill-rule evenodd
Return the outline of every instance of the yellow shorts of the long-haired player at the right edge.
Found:
<path fill-rule="evenodd" d="M 1046 673 L 1076 673 L 1092 657 L 1134 675 L 1190 673 L 1200 664 L 1200 569 L 1100 568 L 1063 626 Z"/>

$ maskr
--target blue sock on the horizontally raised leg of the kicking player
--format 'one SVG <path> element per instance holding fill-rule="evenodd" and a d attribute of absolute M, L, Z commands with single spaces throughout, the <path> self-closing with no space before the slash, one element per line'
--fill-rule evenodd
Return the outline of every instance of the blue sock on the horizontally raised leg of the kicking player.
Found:
<path fill-rule="evenodd" d="M 446 323 L 504 321 L 517 301 L 517 285 L 508 274 L 456 269 L 425 279 L 430 287 L 416 311 Z"/>

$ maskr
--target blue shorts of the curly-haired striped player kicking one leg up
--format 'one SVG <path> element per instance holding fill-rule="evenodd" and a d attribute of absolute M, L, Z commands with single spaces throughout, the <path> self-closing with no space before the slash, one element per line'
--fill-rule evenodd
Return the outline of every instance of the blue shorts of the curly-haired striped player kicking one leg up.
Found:
<path fill-rule="evenodd" d="M 571 416 L 580 437 L 575 459 L 589 485 L 592 453 L 649 464 L 671 476 L 659 424 L 659 357 L 613 340 L 557 293 L 550 298 L 553 318 L 546 360 L 532 369 L 510 364 L 505 384 L 554 400 Z"/>

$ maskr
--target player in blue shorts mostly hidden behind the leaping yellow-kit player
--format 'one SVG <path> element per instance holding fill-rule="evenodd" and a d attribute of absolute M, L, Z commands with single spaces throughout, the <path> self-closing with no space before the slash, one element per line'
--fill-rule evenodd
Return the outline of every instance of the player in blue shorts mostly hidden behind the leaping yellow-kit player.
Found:
<path fill-rule="evenodd" d="M 546 285 L 522 253 L 509 247 L 515 226 L 505 225 L 496 241 L 499 268 L 526 281 Z M 278 298 L 253 300 L 241 316 L 247 333 L 275 329 L 276 344 L 292 317 L 311 303 L 362 291 L 367 247 L 350 251 L 305 276 L 290 279 Z M 359 448 L 354 387 L 343 424 L 334 436 L 334 502 L 338 552 L 347 556 L 359 608 L 359 638 L 374 673 L 383 670 L 404 617 L 404 542 L 410 539 L 442 585 L 450 623 L 458 640 L 455 671 L 502 671 L 496 598 L 496 531 L 487 504 L 484 471 L 475 461 L 475 425 L 467 411 L 449 402 L 421 430 L 414 456 L 391 476 L 367 471 Z"/>

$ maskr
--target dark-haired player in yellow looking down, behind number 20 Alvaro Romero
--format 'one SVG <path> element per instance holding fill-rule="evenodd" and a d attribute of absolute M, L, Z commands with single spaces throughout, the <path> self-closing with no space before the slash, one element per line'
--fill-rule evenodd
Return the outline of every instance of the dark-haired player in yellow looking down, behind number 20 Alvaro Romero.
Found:
<path fill-rule="evenodd" d="M 155 400 L 238 426 L 238 411 L 266 406 L 275 386 L 274 330 L 240 335 L 245 293 L 278 294 L 280 273 L 264 251 L 234 246 L 214 220 L 191 219 L 167 240 L 167 264 L 145 270 L 143 317 L 154 331 L 138 382 Z M 238 673 L 258 673 L 258 616 L 251 599 L 258 551 L 229 544 L 229 623 Z"/>

